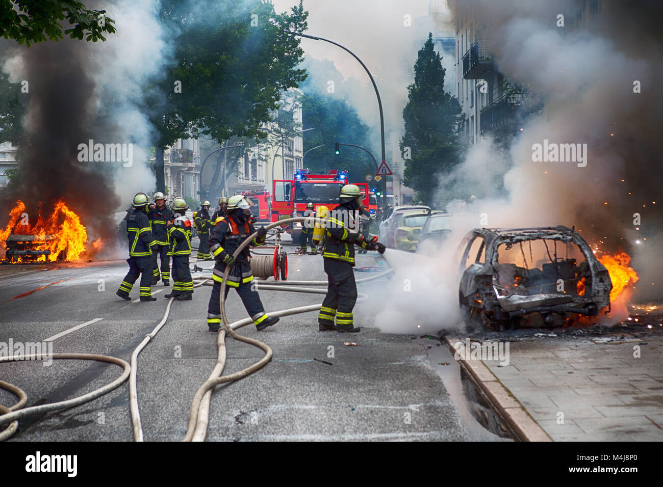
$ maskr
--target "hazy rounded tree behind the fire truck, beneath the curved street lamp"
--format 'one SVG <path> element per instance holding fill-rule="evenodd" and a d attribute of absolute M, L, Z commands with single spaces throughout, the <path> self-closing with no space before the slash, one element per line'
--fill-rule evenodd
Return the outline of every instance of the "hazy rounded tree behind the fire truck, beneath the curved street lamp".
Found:
<path fill-rule="evenodd" d="M 357 111 L 344 99 L 335 99 L 324 93 L 312 93 L 302 97 L 304 152 L 323 145 L 306 154 L 304 167 L 313 172 L 330 169 L 347 169 L 349 182 L 363 182 L 366 174 L 375 174 L 375 163 L 361 149 L 341 146 L 341 153 L 334 154 L 334 143 L 354 144 L 371 148 L 368 127 L 359 119 Z"/>

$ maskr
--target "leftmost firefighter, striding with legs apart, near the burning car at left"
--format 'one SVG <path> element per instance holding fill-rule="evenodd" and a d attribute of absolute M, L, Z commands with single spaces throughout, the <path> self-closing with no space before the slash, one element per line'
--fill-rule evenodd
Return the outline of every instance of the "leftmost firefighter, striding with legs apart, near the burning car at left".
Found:
<path fill-rule="evenodd" d="M 127 217 L 127 240 L 129 241 L 129 272 L 125 276 L 117 296 L 130 301 L 129 293 L 133 284 L 141 276 L 141 301 L 156 301 L 152 297 L 152 252 L 158 250 L 158 244 L 152 237 L 150 221 L 147 217 L 148 197 L 145 193 L 137 193 L 133 197 L 133 209 Z"/>

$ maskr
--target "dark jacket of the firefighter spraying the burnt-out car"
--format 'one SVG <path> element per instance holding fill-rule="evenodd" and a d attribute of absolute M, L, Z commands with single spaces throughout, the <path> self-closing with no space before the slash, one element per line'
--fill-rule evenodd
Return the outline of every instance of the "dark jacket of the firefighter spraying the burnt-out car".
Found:
<path fill-rule="evenodd" d="M 359 237 L 357 212 L 349 205 L 339 205 L 331 211 L 325 229 L 322 256 L 355 265 L 355 241 Z M 366 243 L 361 243 L 366 248 Z"/>

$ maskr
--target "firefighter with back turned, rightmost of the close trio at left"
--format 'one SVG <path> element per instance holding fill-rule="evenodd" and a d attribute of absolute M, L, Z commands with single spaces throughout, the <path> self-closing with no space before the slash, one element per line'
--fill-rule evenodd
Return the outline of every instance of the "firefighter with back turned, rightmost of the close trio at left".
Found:
<path fill-rule="evenodd" d="M 180 301 L 193 299 L 194 281 L 189 270 L 189 256 L 191 255 L 191 220 L 186 216 L 189 207 L 182 198 L 175 198 L 172 202 L 173 219 L 168 222 L 168 238 L 172 256 L 172 292 L 164 298 L 176 298 Z"/>

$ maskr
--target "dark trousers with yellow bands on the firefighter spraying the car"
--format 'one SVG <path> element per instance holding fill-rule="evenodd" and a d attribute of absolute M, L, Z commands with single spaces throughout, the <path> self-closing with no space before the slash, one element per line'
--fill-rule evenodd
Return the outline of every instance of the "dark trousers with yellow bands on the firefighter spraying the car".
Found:
<path fill-rule="evenodd" d="M 328 288 L 318 314 L 318 323 L 333 327 L 335 318 L 337 326 L 351 328 L 352 309 L 357 302 L 357 284 L 352 265 L 333 258 L 325 258 L 324 261 Z"/>

